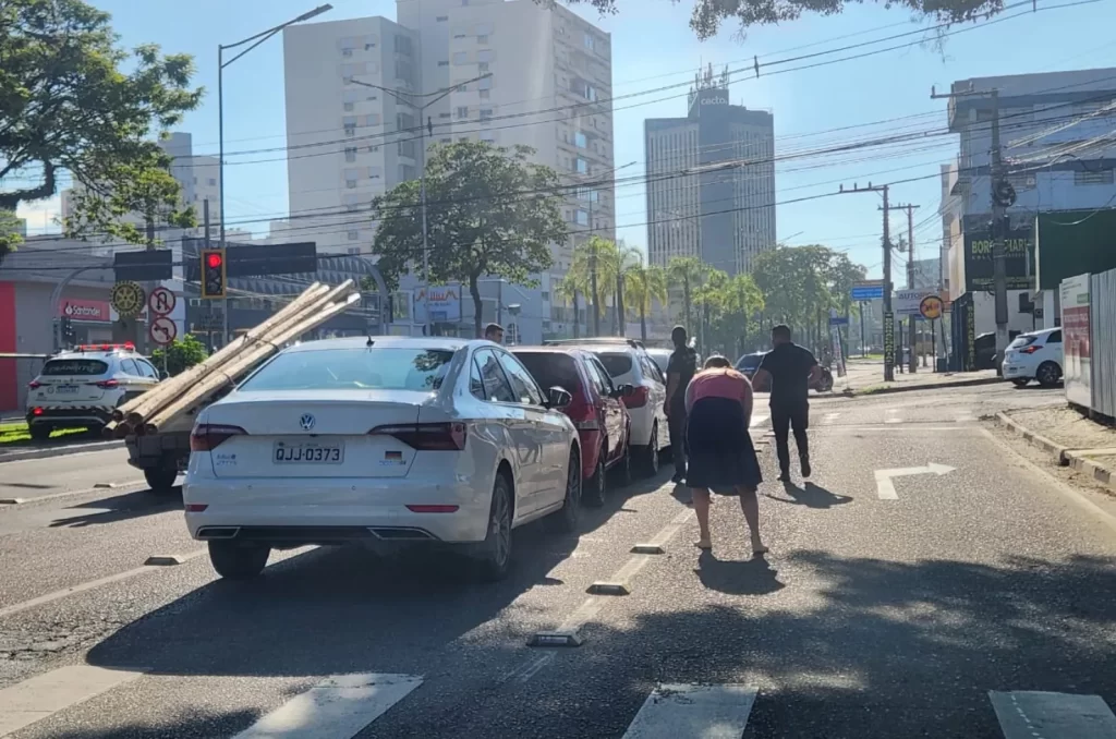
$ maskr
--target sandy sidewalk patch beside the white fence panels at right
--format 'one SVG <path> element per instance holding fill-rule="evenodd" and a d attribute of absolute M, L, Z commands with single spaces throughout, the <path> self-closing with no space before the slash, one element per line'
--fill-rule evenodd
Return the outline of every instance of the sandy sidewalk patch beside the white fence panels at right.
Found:
<path fill-rule="evenodd" d="M 1057 462 L 1091 477 L 1116 493 L 1116 429 L 1065 406 L 998 413 L 997 420 Z"/>

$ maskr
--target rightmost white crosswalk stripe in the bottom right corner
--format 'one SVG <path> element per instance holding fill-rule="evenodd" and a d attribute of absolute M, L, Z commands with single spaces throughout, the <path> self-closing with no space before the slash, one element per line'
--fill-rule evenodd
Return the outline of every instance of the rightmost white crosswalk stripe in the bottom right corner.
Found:
<path fill-rule="evenodd" d="M 1116 716 L 1099 695 L 989 692 L 1004 739 L 1107 739 Z"/>

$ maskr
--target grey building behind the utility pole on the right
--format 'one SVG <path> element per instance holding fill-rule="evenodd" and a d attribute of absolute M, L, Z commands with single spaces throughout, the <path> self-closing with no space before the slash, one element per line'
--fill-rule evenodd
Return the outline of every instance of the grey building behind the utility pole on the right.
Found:
<path fill-rule="evenodd" d="M 997 100 L 989 94 L 997 90 Z M 975 292 L 975 330 L 994 330 L 990 297 L 992 121 L 999 113 L 1000 144 L 1014 190 L 1007 209 L 1009 325 L 1033 324 L 1019 311 L 1020 296 L 1036 296 L 1035 223 L 1039 213 L 1103 209 L 1116 199 L 1116 69 L 980 77 L 956 81 L 949 103 L 950 131 L 960 137 L 958 161 L 943 179 L 943 231 L 949 241 L 950 292 Z M 1042 321 L 1039 321 L 1040 324 Z"/>

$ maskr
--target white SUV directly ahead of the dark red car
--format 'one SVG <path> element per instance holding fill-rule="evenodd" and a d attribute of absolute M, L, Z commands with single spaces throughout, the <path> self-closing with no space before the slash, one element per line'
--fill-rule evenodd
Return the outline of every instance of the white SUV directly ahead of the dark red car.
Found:
<path fill-rule="evenodd" d="M 605 365 L 614 385 L 632 385 L 635 388 L 632 395 L 622 399 L 632 416 L 632 461 L 645 476 L 658 473 L 658 454 L 671 448 L 666 413 L 663 411 L 666 375 L 643 345 L 620 337 L 546 343 L 593 352 Z"/>

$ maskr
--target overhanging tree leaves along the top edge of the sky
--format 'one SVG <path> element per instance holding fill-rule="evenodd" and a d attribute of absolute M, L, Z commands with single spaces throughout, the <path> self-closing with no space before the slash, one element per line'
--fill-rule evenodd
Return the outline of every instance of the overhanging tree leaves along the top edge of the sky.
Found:
<path fill-rule="evenodd" d="M 540 4 L 554 6 L 556 0 L 536 0 Z M 620 0 L 566 0 L 570 4 L 588 4 L 602 13 L 615 13 Z M 647 0 L 639 0 L 646 2 Z M 679 2 L 680 0 L 673 0 Z M 690 15 L 690 28 L 701 40 L 706 40 L 721 28 L 727 20 L 740 23 L 741 31 L 752 26 L 782 23 L 797 20 L 804 12 L 817 12 L 833 16 L 845 10 L 847 0 L 690 0 L 693 12 Z M 906 8 L 916 16 L 936 20 L 937 22 L 961 22 L 991 16 L 1003 10 L 1002 0 L 879 0 L 885 8 Z M 635 3 L 632 3 L 635 8 Z"/>

